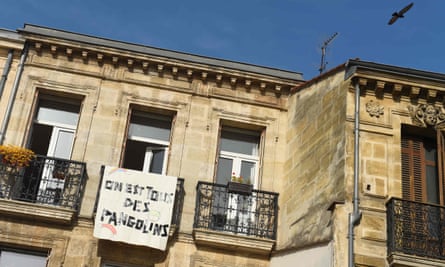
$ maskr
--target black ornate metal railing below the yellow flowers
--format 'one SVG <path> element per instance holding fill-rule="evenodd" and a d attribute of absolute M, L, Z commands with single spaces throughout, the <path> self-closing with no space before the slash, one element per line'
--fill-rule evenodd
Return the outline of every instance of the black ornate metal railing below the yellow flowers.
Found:
<path fill-rule="evenodd" d="M 36 156 L 28 167 L 0 163 L 0 198 L 77 211 L 85 185 L 83 162 Z"/>

